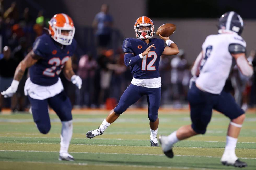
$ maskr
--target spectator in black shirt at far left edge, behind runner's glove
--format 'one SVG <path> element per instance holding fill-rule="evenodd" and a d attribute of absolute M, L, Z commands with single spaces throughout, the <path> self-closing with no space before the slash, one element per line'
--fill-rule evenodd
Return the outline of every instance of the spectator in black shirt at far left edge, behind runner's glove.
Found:
<path fill-rule="evenodd" d="M 8 46 L 3 48 L 3 58 L 0 60 L 0 91 L 6 90 L 13 81 L 14 72 L 17 66 L 17 62 L 11 58 L 11 49 Z M 3 106 L 3 98 L 0 94 L 0 112 Z M 12 97 L 12 106 L 13 110 L 13 101 L 15 96 Z"/>

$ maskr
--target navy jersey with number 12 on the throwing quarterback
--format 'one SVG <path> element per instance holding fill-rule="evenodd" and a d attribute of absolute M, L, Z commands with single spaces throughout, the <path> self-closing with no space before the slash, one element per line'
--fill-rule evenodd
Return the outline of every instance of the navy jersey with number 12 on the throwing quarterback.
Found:
<path fill-rule="evenodd" d="M 133 77 L 136 79 L 150 79 L 160 77 L 158 66 L 160 56 L 162 55 L 165 43 L 162 39 L 152 38 L 149 39 L 149 44 L 145 41 L 135 38 L 127 38 L 123 42 L 123 51 L 125 53 L 133 53 L 134 56 L 143 53 L 150 45 L 154 44 L 155 47 L 146 57 L 138 60 L 137 63 L 130 67 Z"/>

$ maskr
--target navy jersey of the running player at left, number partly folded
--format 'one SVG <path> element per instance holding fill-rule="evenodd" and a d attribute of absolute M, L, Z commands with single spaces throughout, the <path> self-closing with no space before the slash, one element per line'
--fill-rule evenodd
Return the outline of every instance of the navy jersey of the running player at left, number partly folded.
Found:
<path fill-rule="evenodd" d="M 43 34 L 38 37 L 33 44 L 33 51 L 41 59 L 29 68 L 30 80 L 42 86 L 57 83 L 62 68 L 74 54 L 76 44 L 73 39 L 71 45 L 63 46 L 62 49 L 50 35 Z"/>

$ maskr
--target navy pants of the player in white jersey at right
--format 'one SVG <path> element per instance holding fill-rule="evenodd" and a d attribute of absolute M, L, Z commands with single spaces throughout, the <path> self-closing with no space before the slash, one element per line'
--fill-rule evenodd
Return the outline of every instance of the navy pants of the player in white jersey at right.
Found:
<path fill-rule="evenodd" d="M 201 134 L 206 132 L 206 127 L 212 117 L 212 109 L 223 113 L 231 120 L 245 113 L 230 93 L 222 91 L 219 95 L 216 95 L 203 92 L 196 87 L 195 83 L 192 84 L 188 92 L 188 100 L 192 128 L 195 132 Z"/>

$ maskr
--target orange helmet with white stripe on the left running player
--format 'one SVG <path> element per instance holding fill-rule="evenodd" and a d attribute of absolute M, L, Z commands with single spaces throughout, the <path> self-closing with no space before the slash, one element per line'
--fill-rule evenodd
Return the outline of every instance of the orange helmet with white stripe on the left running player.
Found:
<path fill-rule="evenodd" d="M 64 13 L 55 14 L 49 23 L 51 37 L 62 45 L 70 45 L 75 35 L 73 20 Z M 63 35 L 62 31 L 68 31 L 68 35 Z"/>

